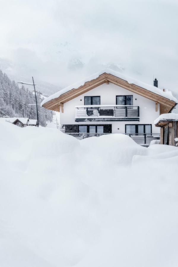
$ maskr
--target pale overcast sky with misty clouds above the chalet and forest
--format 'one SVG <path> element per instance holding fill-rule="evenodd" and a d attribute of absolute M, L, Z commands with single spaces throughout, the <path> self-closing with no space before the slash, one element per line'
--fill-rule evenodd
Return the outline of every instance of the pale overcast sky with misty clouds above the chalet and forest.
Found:
<path fill-rule="evenodd" d="M 178 92 L 177 0 L 0 0 L 0 65 L 61 87 L 110 67 Z"/>

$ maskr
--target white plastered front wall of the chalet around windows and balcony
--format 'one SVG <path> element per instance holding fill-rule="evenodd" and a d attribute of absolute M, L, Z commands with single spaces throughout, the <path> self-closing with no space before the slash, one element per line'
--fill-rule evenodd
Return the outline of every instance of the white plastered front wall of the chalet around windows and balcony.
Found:
<path fill-rule="evenodd" d="M 116 105 L 116 96 L 133 95 L 133 106 L 139 106 L 139 121 L 82 121 L 76 122 L 76 106 L 84 105 L 85 96 L 100 96 L 101 105 Z M 60 111 L 60 124 L 63 125 L 105 125 L 112 124 L 112 133 L 125 133 L 125 124 L 151 124 L 152 133 L 159 134 L 159 128 L 155 127 L 154 120 L 159 117 L 155 110 L 155 102 L 136 93 L 126 90 L 112 83 L 102 84 L 87 93 L 84 93 L 63 104 L 63 113 Z"/>

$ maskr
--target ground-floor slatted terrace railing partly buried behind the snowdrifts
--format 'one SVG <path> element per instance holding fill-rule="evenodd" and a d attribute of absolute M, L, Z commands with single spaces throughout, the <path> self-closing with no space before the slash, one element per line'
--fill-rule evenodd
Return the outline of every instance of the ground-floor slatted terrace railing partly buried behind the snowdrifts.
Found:
<path fill-rule="evenodd" d="M 66 133 L 76 137 L 77 139 L 85 139 L 88 137 L 96 136 L 99 137 L 104 134 L 89 134 L 89 133 Z M 130 136 L 137 144 L 141 146 L 148 147 L 152 140 L 160 140 L 160 134 L 127 134 Z"/>

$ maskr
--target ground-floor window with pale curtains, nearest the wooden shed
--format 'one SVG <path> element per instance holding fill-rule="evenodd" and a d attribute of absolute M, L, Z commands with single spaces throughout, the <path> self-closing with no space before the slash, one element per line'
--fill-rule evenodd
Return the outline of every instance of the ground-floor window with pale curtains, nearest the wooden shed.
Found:
<path fill-rule="evenodd" d="M 151 124 L 126 124 L 125 133 L 126 134 L 151 134 L 152 125 Z"/>

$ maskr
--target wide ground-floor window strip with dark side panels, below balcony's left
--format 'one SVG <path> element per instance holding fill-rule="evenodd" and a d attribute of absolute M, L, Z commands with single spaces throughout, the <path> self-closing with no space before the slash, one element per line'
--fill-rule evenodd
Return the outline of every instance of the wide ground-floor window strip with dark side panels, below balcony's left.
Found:
<path fill-rule="evenodd" d="M 111 134 L 112 124 L 105 125 L 65 125 L 65 133 Z"/>

